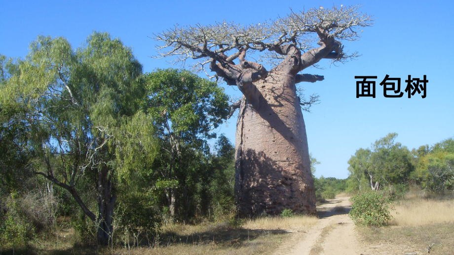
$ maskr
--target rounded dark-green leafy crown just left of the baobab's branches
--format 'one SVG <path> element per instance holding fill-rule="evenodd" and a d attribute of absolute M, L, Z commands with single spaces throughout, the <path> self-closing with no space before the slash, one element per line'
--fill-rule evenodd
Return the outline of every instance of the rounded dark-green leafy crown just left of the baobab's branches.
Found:
<path fill-rule="evenodd" d="M 228 96 L 215 82 L 177 69 L 157 69 L 146 75 L 146 82 L 144 107 L 157 126 L 164 127 L 162 134 L 212 137 L 210 132 L 227 118 Z"/>

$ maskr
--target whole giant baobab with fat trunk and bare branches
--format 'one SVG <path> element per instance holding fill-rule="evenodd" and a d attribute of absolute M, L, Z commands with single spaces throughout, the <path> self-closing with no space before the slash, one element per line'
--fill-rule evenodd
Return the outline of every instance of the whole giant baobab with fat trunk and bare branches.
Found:
<path fill-rule="evenodd" d="M 335 63 L 357 56 L 344 51 L 341 41 L 357 40 L 360 29 L 372 25 L 372 17 L 359 7 L 292 11 L 249 26 L 226 21 L 175 26 L 154 36 L 162 43 L 157 46 L 161 57 L 173 56 L 176 63 L 196 60 L 194 67 L 211 71 L 243 94 L 230 106 L 231 113 L 239 109 L 235 190 L 240 214 L 275 215 L 286 208 L 316 212 L 302 114 L 302 106 L 315 98 L 301 99 L 296 84 L 323 80 L 300 74 L 322 59 Z"/>

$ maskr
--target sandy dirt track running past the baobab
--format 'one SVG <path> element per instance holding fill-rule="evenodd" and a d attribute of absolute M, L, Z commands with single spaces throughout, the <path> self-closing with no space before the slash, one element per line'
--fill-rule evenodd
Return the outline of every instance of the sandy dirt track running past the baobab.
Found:
<path fill-rule="evenodd" d="M 338 196 L 317 207 L 319 222 L 306 233 L 295 236 L 286 255 L 360 255 L 365 252 L 358 242 L 354 224 L 348 217 L 349 197 Z"/>

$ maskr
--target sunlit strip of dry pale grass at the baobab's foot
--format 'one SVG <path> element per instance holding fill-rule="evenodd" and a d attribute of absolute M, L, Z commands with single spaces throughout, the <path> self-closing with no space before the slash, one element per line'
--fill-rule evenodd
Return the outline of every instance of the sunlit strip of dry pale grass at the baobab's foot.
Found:
<path fill-rule="evenodd" d="M 317 223 L 315 216 L 295 216 L 292 218 L 282 217 L 263 217 L 247 220 L 243 224 L 246 229 L 286 229 L 286 230 L 302 230 L 307 229 Z"/>

